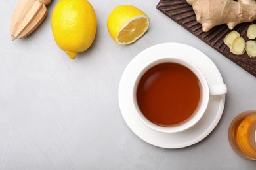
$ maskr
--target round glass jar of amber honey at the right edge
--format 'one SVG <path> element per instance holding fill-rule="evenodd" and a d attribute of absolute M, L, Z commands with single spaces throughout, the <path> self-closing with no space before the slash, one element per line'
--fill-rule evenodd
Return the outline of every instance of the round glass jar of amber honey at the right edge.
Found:
<path fill-rule="evenodd" d="M 240 156 L 256 160 L 256 110 L 242 112 L 230 124 L 228 138 Z"/>

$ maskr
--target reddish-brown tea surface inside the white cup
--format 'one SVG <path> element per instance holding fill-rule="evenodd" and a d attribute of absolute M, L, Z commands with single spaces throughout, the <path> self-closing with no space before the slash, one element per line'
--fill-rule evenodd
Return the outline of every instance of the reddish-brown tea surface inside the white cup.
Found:
<path fill-rule="evenodd" d="M 200 102 L 200 82 L 179 63 L 160 63 L 148 69 L 137 87 L 142 114 L 160 126 L 175 126 L 188 120 Z"/>

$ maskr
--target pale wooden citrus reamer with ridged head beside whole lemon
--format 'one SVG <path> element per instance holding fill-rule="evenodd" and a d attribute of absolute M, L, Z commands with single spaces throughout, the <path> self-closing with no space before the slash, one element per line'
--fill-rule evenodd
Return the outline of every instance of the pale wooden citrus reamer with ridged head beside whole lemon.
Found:
<path fill-rule="evenodd" d="M 45 7 L 51 0 L 20 0 L 10 25 L 12 41 L 21 39 L 32 33 L 47 15 Z"/>

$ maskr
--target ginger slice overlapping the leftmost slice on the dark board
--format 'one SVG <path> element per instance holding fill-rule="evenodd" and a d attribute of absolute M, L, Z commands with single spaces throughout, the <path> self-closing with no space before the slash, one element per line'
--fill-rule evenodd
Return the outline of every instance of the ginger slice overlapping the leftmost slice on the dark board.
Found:
<path fill-rule="evenodd" d="M 230 52 L 236 55 L 242 55 L 245 52 L 245 40 L 243 37 L 236 37 L 230 46 Z"/>

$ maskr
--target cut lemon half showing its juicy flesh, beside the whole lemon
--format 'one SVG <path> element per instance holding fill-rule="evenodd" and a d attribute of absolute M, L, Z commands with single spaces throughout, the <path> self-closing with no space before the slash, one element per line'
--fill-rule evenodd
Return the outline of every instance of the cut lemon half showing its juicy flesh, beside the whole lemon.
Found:
<path fill-rule="evenodd" d="M 108 16 L 108 32 L 117 44 L 131 44 L 148 31 L 148 16 L 133 5 L 119 5 Z"/>

